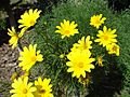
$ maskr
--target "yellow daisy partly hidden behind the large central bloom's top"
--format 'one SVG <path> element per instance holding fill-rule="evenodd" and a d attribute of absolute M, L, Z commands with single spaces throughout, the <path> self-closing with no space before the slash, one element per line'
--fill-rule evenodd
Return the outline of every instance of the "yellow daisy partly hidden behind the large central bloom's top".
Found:
<path fill-rule="evenodd" d="M 92 48 L 91 46 L 92 41 L 90 41 L 90 36 L 88 36 L 86 39 L 84 37 L 81 38 L 81 40 L 78 41 L 78 43 L 75 43 L 73 45 L 72 51 L 79 48 L 79 50 L 89 50 Z"/>

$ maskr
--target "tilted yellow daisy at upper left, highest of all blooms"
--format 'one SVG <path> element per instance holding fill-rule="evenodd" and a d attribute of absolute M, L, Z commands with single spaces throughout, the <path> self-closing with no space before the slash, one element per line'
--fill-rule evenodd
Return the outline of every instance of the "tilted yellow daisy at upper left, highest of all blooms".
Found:
<path fill-rule="evenodd" d="M 31 27 L 36 24 L 37 19 L 40 17 L 41 11 L 38 11 L 38 9 L 36 9 L 35 11 L 32 11 L 32 9 L 30 9 L 28 12 L 26 11 L 21 18 L 18 19 L 18 23 L 21 24 L 18 26 L 18 28 L 23 28 L 23 27 Z"/>

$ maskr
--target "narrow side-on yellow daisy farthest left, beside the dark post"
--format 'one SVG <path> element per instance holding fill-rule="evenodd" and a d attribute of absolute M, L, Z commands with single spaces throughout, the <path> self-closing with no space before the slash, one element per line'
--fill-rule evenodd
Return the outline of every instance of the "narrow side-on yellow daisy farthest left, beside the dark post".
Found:
<path fill-rule="evenodd" d="M 9 44 L 12 45 L 12 48 L 17 46 L 17 42 L 18 42 L 18 34 L 16 33 L 14 27 L 12 27 L 11 29 L 8 29 L 8 34 L 11 37 L 11 39 L 9 40 Z"/>

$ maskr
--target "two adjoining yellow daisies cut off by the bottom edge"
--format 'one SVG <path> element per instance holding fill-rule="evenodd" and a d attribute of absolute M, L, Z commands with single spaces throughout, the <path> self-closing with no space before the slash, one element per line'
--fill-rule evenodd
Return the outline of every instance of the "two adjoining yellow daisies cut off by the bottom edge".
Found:
<path fill-rule="evenodd" d="M 28 77 L 18 78 L 12 83 L 11 97 L 53 97 L 51 79 L 42 80 L 40 77 L 35 81 L 35 85 L 28 82 Z"/>

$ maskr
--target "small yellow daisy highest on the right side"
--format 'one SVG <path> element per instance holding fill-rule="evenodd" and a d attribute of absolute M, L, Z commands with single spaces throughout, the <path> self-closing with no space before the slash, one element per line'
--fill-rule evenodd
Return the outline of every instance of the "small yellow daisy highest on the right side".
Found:
<path fill-rule="evenodd" d="M 104 24 L 104 20 L 106 19 L 106 17 L 102 18 L 102 14 L 100 15 L 93 15 L 90 19 L 90 25 L 96 27 L 98 29 L 100 28 L 100 26 L 102 24 Z"/>

